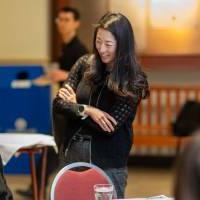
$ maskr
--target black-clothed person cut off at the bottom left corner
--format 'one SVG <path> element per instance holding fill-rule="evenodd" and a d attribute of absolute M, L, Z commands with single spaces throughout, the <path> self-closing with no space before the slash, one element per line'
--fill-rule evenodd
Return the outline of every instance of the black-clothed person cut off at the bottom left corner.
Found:
<path fill-rule="evenodd" d="M 6 180 L 3 175 L 3 164 L 0 156 L 0 199 L 1 200 L 13 200 L 12 193 L 6 184 Z"/>

